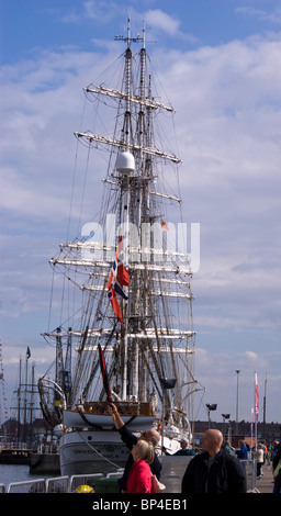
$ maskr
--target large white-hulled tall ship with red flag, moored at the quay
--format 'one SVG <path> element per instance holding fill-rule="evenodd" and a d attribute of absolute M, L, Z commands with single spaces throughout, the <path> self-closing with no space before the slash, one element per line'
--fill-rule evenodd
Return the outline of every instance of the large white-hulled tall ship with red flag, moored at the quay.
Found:
<path fill-rule="evenodd" d="M 99 167 L 102 154 L 101 206 L 50 260 L 54 277 L 76 291 L 72 312 L 72 294 L 61 295 L 69 316 L 43 334 L 56 349 L 56 371 L 38 382 L 43 413 L 60 431 L 63 475 L 125 465 L 128 450 L 108 410 L 111 400 L 131 431 L 155 427 L 158 452 L 177 451 L 180 438 L 192 438 L 200 390 L 187 224 L 180 195 L 165 188 L 180 176 L 181 160 L 169 137 L 168 149 L 162 146 L 160 132 L 161 117 L 173 125 L 175 110 L 154 90 L 145 23 L 132 37 L 128 20 L 115 40 L 125 44 L 121 83 L 85 88 L 86 108 L 102 108 L 106 131 L 75 133 L 78 149 L 94 153 Z"/>

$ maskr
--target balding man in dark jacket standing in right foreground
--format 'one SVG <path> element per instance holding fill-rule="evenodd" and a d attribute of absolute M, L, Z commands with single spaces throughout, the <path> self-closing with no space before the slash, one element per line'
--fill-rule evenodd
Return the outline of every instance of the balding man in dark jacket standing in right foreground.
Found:
<path fill-rule="evenodd" d="M 187 468 L 181 492 L 194 493 L 246 493 L 246 476 L 239 460 L 223 450 L 223 435 L 209 429 L 202 439 L 203 452 L 196 455 Z"/>

